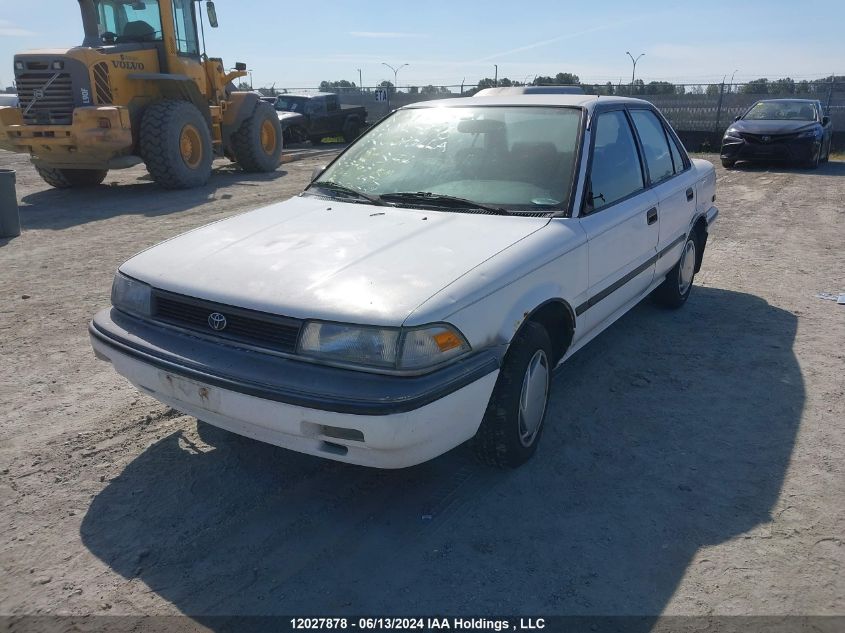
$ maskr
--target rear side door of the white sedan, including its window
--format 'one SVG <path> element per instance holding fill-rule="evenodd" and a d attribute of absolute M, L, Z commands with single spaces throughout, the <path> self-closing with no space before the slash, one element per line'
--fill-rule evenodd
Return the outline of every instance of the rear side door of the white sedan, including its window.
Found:
<path fill-rule="evenodd" d="M 681 256 L 695 215 L 695 173 L 658 115 L 648 107 L 631 108 L 631 120 L 646 167 L 648 185 L 657 196 L 659 237 L 655 276 L 664 276 Z"/>

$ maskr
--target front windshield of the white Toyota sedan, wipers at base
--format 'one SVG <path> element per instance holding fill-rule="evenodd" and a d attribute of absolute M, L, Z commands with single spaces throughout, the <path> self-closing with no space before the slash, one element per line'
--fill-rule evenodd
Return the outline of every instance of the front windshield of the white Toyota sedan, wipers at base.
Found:
<path fill-rule="evenodd" d="M 399 110 L 341 155 L 316 184 L 379 196 L 426 192 L 516 210 L 568 205 L 581 110 Z"/>

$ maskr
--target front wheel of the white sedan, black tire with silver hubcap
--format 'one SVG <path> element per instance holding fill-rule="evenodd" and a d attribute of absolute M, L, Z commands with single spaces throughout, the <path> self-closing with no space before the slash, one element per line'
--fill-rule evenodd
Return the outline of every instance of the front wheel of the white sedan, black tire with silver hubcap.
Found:
<path fill-rule="evenodd" d="M 537 450 L 548 411 L 552 357 L 546 329 L 525 323 L 511 342 L 481 426 L 470 441 L 482 463 L 516 468 Z"/>

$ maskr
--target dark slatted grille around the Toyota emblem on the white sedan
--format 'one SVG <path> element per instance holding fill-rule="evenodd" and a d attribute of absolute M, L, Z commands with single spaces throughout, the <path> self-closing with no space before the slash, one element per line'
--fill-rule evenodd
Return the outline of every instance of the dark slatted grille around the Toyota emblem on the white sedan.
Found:
<path fill-rule="evenodd" d="M 153 318 L 208 336 L 248 343 L 278 352 L 295 353 L 302 322 L 257 310 L 247 310 L 211 301 L 156 290 Z M 208 324 L 213 313 L 226 317 L 226 327 L 217 331 Z"/>

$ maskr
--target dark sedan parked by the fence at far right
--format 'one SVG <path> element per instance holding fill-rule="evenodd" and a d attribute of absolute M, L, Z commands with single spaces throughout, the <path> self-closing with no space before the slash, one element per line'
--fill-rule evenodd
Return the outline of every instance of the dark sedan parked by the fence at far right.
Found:
<path fill-rule="evenodd" d="M 737 117 L 722 139 L 722 165 L 777 160 L 818 167 L 830 156 L 833 129 L 820 101 L 768 99 Z"/>

